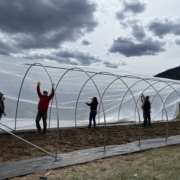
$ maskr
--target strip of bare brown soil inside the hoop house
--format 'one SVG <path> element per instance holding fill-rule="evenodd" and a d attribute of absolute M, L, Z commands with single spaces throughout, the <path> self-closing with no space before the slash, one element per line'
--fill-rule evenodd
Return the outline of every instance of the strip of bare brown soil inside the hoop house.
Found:
<path fill-rule="evenodd" d="M 141 139 L 165 138 L 166 123 L 153 123 L 150 127 L 140 126 Z M 104 145 L 104 127 L 62 129 L 59 132 L 58 153 L 101 147 Z M 138 140 L 139 125 L 113 125 L 106 128 L 106 145 L 126 144 Z M 180 134 L 180 121 L 169 122 L 168 135 Z M 55 154 L 57 131 L 49 130 L 46 135 L 37 132 L 17 133 L 21 138 Z M 24 143 L 9 134 L 0 134 L 0 163 L 46 156 L 44 152 Z"/>

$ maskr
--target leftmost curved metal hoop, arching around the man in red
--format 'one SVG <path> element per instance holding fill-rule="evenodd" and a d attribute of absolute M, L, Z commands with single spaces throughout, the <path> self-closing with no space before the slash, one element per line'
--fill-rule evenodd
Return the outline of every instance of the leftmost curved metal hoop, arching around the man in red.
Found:
<path fill-rule="evenodd" d="M 17 100 L 17 105 L 16 105 L 16 114 L 15 114 L 15 131 L 16 131 L 16 121 L 17 121 L 17 113 L 18 113 L 18 107 L 19 107 L 19 99 L 20 99 L 20 95 L 21 95 L 21 90 L 22 90 L 22 86 L 24 84 L 24 80 L 29 72 L 29 70 L 32 68 L 32 66 L 36 66 L 39 65 L 41 67 L 43 67 L 43 69 L 46 71 L 51 83 L 53 83 L 51 76 L 49 74 L 49 72 L 47 71 L 47 69 L 40 63 L 34 63 L 32 65 L 30 65 L 30 67 L 27 69 L 24 78 L 22 80 L 21 86 L 20 86 L 20 90 L 19 90 L 19 95 L 18 95 L 18 100 Z M 57 161 L 57 154 L 58 154 L 58 140 L 59 140 L 59 109 L 58 109 L 58 102 L 57 102 L 57 98 L 56 98 L 56 92 L 54 92 L 54 96 L 55 96 L 55 100 L 56 100 L 56 109 L 57 109 L 57 140 L 56 140 L 56 157 L 55 160 Z"/>

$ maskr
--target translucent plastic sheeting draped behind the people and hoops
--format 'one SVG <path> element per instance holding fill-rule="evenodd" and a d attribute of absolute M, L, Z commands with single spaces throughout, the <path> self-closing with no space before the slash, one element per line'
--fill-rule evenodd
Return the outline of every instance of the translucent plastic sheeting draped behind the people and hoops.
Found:
<path fill-rule="evenodd" d="M 36 64 L 27 72 L 31 65 L 25 63 L 34 62 L 22 63 L 21 60 L 15 64 L 13 61 L 0 60 L 0 91 L 6 97 L 7 113 L 6 117 L 2 117 L 1 123 L 11 129 L 36 128 L 35 118 L 39 101 L 36 92 L 37 81 L 41 82 L 41 91 L 47 90 L 50 93 L 52 88 L 43 67 Z M 108 68 L 59 66 L 49 62 L 43 65 L 56 84 L 60 127 L 87 126 L 90 110 L 85 102 L 90 102 L 94 96 L 99 101 L 97 123 L 100 124 L 143 121 L 140 99 L 142 93 L 150 96 L 152 121 L 173 120 L 178 115 L 179 81 Z M 55 99 L 49 105 L 48 115 L 48 127 L 57 127 Z"/>

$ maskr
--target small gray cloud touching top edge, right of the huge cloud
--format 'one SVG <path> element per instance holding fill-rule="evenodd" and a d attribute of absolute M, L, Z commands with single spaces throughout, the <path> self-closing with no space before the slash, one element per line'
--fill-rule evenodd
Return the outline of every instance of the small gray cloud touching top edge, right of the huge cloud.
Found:
<path fill-rule="evenodd" d="M 124 20 L 127 13 L 132 13 L 135 15 L 146 10 L 146 3 L 138 0 L 132 2 L 124 0 L 122 5 L 123 9 L 116 13 L 116 18 L 119 20 Z"/>

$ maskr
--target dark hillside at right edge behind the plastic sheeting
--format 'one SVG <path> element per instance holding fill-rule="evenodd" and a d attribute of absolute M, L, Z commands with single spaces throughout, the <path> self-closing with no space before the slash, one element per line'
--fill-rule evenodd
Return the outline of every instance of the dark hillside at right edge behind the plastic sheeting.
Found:
<path fill-rule="evenodd" d="M 155 75 L 154 77 L 168 78 L 174 80 L 180 80 L 180 66 L 168 69 L 162 73 Z"/>

